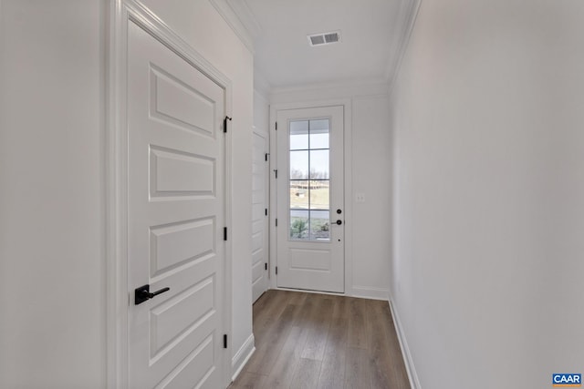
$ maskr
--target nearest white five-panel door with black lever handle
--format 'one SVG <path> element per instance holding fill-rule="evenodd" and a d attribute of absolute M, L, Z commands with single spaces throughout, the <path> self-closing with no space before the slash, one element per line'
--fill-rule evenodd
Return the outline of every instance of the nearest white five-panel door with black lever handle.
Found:
<path fill-rule="evenodd" d="M 224 387 L 224 89 L 128 28 L 130 388 Z"/>

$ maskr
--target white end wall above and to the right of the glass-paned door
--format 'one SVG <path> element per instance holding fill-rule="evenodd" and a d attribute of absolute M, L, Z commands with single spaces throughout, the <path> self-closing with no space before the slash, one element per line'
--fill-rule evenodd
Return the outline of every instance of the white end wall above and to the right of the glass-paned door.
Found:
<path fill-rule="evenodd" d="M 345 174 L 352 190 L 345 194 L 346 269 L 349 295 L 387 299 L 391 257 L 391 131 L 387 85 L 383 83 L 276 89 L 270 103 L 350 102 L 350 156 Z M 355 194 L 365 194 L 357 203 Z"/>

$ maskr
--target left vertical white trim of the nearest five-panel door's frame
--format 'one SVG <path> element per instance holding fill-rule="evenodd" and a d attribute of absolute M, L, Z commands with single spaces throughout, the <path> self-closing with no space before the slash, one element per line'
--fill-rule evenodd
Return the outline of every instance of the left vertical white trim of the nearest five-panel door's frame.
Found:
<path fill-rule="evenodd" d="M 106 251 L 108 256 L 106 302 L 107 387 L 128 387 L 128 262 L 126 242 L 126 161 L 123 136 L 126 122 L 125 73 L 126 11 L 120 0 L 110 3 L 108 61 L 108 129 L 106 131 Z"/>

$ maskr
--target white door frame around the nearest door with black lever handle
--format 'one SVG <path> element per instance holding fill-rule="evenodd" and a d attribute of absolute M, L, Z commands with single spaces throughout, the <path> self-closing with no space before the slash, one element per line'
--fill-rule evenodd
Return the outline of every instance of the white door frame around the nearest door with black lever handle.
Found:
<path fill-rule="evenodd" d="M 231 117 L 232 85 L 225 77 L 181 36 L 151 11 L 134 0 L 110 0 L 108 36 L 108 72 L 105 102 L 108 120 L 105 139 L 106 199 L 106 338 L 107 338 L 107 387 L 128 387 L 128 127 L 126 118 L 128 24 L 130 21 L 155 36 L 163 45 L 224 88 L 225 112 Z M 232 229 L 232 142 L 231 132 L 225 138 L 225 223 Z M 231 240 L 225 244 L 224 262 L 224 333 L 232 339 L 232 265 Z M 224 377 L 231 381 L 231 357 L 233 350 L 224 358 Z"/>

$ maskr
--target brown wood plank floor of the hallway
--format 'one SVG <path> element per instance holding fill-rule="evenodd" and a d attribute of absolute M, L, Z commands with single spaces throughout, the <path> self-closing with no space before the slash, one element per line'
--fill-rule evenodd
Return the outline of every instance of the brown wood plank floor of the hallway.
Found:
<path fill-rule="evenodd" d="M 255 353 L 229 389 L 410 388 L 388 302 L 270 290 Z"/>

